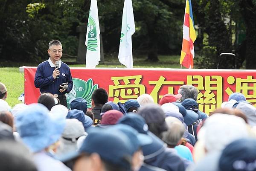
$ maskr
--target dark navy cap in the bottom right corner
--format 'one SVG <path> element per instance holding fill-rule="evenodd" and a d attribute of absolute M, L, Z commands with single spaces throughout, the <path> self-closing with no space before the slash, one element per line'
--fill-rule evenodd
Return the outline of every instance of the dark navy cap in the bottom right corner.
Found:
<path fill-rule="evenodd" d="M 222 151 L 221 171 L 256 171 L 256 139 L 239 139 L 231 142 Z"/>

